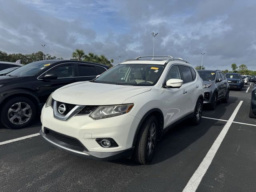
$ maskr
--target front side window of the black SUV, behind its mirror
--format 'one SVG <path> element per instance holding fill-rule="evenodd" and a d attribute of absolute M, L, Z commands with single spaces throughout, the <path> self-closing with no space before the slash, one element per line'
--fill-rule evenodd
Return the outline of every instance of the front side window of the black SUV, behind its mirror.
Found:
<path fill-rule="evenodd" d="M 72 64 L 57 66 L 46 72 L 46 74 L 56 74 L 58 78 L 74 77 L 74 66 Z"/>

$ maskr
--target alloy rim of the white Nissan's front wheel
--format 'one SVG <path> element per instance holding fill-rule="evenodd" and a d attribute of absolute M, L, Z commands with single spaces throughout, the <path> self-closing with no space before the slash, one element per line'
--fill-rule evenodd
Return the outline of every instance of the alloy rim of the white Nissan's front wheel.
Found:
<path fill-rule="evenodd" d="M 156 144 L 156 124 L 152 123 L 148 129 L 148 136 L 147 136 L 147 155 L 150 156 Z"/>

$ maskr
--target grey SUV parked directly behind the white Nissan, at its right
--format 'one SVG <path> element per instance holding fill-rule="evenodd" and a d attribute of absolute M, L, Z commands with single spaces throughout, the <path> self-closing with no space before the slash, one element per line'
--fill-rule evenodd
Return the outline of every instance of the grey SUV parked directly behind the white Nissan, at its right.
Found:
<path fill-rule="evenodd" d="M 214 110 L 217 102 L 228 102 L 229 84 L 225 75 L 220 70 L 197 70 L 204 82 L 204 104 L 209 104 Z"/>

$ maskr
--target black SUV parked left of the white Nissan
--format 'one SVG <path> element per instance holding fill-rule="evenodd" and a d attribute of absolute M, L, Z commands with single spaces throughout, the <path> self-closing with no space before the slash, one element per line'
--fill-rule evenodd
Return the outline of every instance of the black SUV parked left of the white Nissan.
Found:
<path fill-rule="evenodd" d="M 28 126 L 56 89 L 94 79 L 108 66 L 75 60 L 43 60 L 0 76 L 0 121 L 12 129 Z"/>

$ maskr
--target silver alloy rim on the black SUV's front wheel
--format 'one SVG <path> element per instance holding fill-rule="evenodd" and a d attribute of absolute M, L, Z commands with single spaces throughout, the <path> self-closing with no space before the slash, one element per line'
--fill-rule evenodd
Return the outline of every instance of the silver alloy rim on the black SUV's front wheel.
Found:
<path fill-rule="evenodd" d="M 32 116 L 32 109 L 29 104 L 25 102 L 17 102 L 13 104 L 8 110 L 8 119 L 12 124 L 22 125 Z"/>

